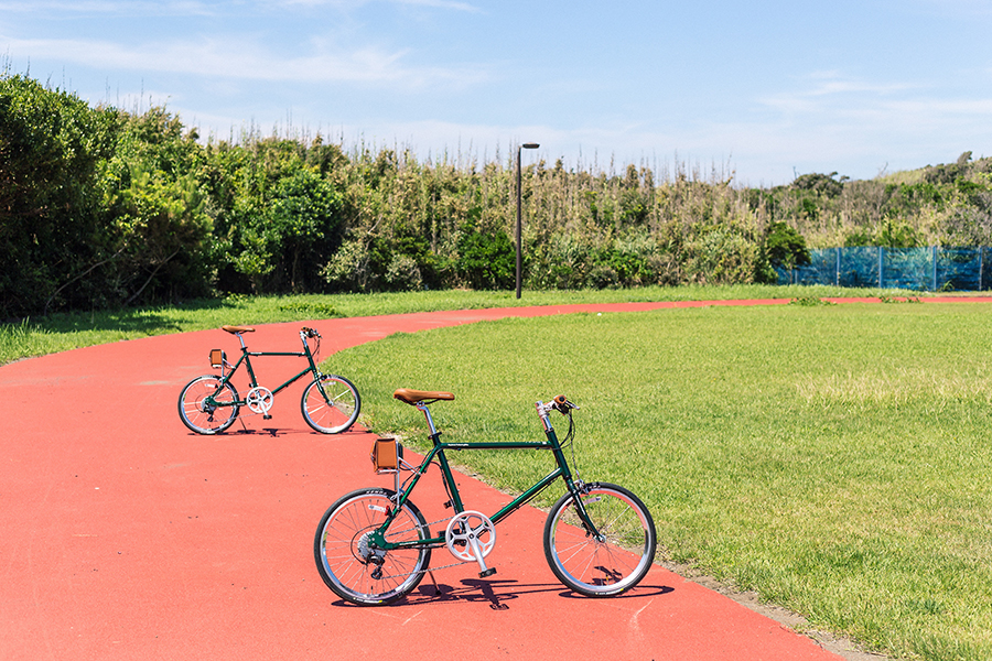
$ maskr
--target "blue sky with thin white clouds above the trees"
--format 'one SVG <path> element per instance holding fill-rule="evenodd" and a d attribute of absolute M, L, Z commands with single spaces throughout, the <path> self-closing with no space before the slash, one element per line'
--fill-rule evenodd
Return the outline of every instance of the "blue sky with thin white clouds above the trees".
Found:
<path fill-rule="evenodd" d="M 992 155 L 990 34 L 989 0 L 0 0 L 11 73 L 203 134 L 741 185 Z"/>

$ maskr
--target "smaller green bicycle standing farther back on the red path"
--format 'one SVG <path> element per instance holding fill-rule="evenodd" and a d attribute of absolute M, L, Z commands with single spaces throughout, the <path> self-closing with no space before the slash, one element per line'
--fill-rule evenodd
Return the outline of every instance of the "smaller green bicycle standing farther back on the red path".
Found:
<path fill-rule="evenodd" d="M 180 420 L 192 431 L 197 434 L 218 434 L 234 424 L 242 407 L 247 407 L 252 413 L 269 420 L 272 418 L 269 410 L 272 408 L 276 394 L 305 376 L 313 378 L 313 381 L 303 391 L 303 399 L 300 402 L 306 424 L 322 434 L 337 434 L 354 424 L 362 408 L 358 390 L 344 377 L 325 375 L 317 368 L 321 334 L 315 329 L 305 326 L 300 329 L 303 350 L 293 353 L 249 351 L 242 336 L 245 333 L 255 333 L 255 328 L 250 326 L 222 326 L 222 328 L 238 337 L 241 345 L 241 357 L 231 365 L 227 361 L 227 355 L 223 350 L 211 350 L 211 366 L 219 369 L 220 376 L 196 377 L 183 388 L 179 398 Z M 308 340 L 313 340 L 313 350 Z M 252 358 L 265 356 L 306 358 L 306 367 L 295 377 L 269 390 L 258 384 L 255 368 L 251 366 Z M 248 371 L 249 384 L 249 390 L 244 399 L 231 382 L 241 366 Z"/>

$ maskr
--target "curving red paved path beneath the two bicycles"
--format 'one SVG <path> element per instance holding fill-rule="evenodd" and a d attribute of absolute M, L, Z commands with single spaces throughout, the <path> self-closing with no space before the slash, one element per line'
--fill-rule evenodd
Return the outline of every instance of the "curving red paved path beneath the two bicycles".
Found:
<path fill-rule="evenodd" d="M 398 330 L 510 315 L 784 302 L 563 305 L 311 325 L 326 357 Z M 248 346 L 299 350 L 301 325 L 260 326 Z M 535 509 L 500 524 L 487 559 L 498 568 L 492 579 L 463 565 L 435 573 L 441 597 L 427 578 L 398 605 L 346 606 L 321 582 L 312 541 L 334 499 L 389 483 L 370 470 L 370 436 L 312 433 L 300 415 L 302 381 L 280 393 L 271 421 L 250 416 L 247 431 L 216 437 L 188 433 L 176 398 L 211 371 L 214 347 L 234 354 L 237 342 L 206 330 L 0 367 L 0 659 L 838 659 L 661 567 L 629 596 L 576 598 L 544 564 L 544 514 Z M 268 382 L 281 382 L 296 362 L 269 360 Z M 422 484 L 435 491 L 417 498 L 429 521 L 440 518 L 431 508 L 442 500 L 436 481 Z M 505 501 L 471 478 L 461 484 L 473 507 Z M 448 562 L 435 552 L 435 566 Z"/>

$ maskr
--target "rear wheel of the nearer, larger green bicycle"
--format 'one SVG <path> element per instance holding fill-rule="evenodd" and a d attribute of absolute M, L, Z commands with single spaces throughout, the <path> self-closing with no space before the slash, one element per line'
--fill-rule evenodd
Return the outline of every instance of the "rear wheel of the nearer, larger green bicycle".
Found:
<path fill-rule="evenodd" d="M 427 546 L 376 551 L 365 545 L 367 534 L 392 511 L 395 497 L 390 489 L 358 489 L 342 496 L 321 518 L 313 539 L 314 561 L 324 584 L 346 602 L 360 606 L 396 602 L 410 594 L 427 572 L 431 560 Z M 427 540 L 430 530 L 420 510 L 407 501 L 386 538 Z"/>

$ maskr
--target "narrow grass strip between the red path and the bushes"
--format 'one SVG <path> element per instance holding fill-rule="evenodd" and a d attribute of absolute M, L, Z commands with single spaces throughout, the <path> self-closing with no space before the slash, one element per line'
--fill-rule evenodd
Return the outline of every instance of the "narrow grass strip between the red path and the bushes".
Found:
<path fill-rule="evenodd" d="M 111 312 L 53 314 L 40 319 L 0 324 L 0 365 L 85 346 L 147 335 L 217 328 L 224 324 L 267 324 L 436 310 L 468 310 L 561 303 L 792 299 L 797 296 L 878 296 L 906 292 L 827 286 L 683 286 L 635 290 L 524 292 L 436 291 L 392 294 L 308 296 L 229 296 L 185 305 Z"/>

